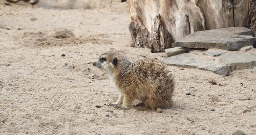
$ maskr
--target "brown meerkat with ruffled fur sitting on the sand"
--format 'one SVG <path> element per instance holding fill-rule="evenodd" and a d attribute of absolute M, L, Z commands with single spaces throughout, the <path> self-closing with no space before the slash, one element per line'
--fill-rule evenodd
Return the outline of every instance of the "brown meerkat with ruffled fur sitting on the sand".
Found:
<path fill-rule="evenodd" d="M 139 100 L 146 109 L 169 108 L 173 104 L 174 81 L 165 64 L 143 59 L 134 63 L 118 51 L 102 54 L 93 65 L 103 69 L 119 91 L 113 104 L 120 109 L 131 108 Z"/>

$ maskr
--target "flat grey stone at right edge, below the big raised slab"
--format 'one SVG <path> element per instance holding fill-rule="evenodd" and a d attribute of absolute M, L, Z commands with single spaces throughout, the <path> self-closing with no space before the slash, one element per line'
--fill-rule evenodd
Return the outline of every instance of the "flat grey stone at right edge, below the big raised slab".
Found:
<path fill-rule="evenodd" d="M 228 64 L 229 70 L 251 69 L 256 66 L 256 56 L 241 52 L 224 54 L 221 60 Z"/>

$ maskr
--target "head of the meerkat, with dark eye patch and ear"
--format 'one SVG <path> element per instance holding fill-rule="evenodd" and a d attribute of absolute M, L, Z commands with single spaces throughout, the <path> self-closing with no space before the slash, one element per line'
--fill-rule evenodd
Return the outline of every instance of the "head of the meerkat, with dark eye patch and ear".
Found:
<path fill-rule="evenodd" d="M 119 68 L 126 68 L 130 64 L 129 60 L 124 54 L 118 51 L 110 51 L 102 54 L 99 60 L 93 62 L 93 66 L 96 66 L 108 73 L 113 73 Z"/>

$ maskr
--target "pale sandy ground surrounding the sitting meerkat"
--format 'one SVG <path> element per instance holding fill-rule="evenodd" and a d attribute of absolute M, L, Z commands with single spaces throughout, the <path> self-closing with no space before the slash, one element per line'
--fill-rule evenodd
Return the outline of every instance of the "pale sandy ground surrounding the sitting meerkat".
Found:
<path fill-rule="evenodd" d="M 118 92 L 91 64 L 100 54 L 165 56 L 129 47 L 129 21 L 127 5 L 117 1 L 67 10 L 0 5 L 0 133 L 256 134 L 255 68 L 227 77 L 169 66 L 173 108 L 106 106 Z"/>

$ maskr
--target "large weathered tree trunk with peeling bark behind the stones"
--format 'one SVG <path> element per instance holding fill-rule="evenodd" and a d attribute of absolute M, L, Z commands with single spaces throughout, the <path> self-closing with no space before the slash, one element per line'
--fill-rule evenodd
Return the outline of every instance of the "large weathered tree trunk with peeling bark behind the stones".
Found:
<path fill-rule="evenodd" d="M 127 0 L 134 47 L 163 52 L 190 33 L 244 26 L 255 29 L 255 0 Z M 254 34 L 255 35 L 255 34 Z"/>

